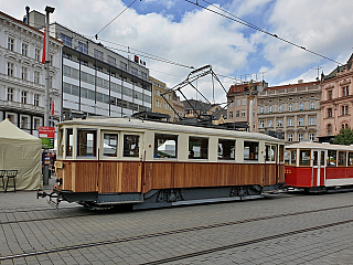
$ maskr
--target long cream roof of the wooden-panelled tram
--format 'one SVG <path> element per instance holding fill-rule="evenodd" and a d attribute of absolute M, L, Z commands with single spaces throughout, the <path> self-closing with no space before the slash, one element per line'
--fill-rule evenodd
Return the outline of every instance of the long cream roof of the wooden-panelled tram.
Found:
<path fill-rule="evenodd" d="M 174 132 L 184 132 L 184 134 L 200 134 L 200 135 L 217 135 L 224 137 L 236 137 L 244 139 L 257 139 L 265 141 L 275 141 L 285 144 L 284 140 L 277 139 L 275 137 L 259 134 L 259 132 L 249 132 L 249 131 L 237 131 L 229 130 L 224 128 L 206 128 L 192 125 L 179 125 L 172 123 L 161 123 L 152 120 L 141 120 L 137 118 L 87 118 L 87 119 L 73 119 L 58 123 L 57 126 L 67 126 L 67 125 L 87 125 L 87 126 L 97 126 L 97 127 L 121 127 L 121 128 L 133 128 L 133 129 L 148 129 L 148 130 L 160 130 L 160 131 L 174 131 Z"/>

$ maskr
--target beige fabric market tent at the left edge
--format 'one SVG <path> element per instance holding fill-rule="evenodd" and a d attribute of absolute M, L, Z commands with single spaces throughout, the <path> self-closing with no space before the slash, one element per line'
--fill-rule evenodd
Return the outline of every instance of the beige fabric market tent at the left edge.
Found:
<path fill-rule="evenodd" d="M 19 171 L 15 177 L 17 190 L 36 190 L 42 184 L 41 160 L 41 139 L 19 129 L 7 119 L 0 123 L 0 169 Z M 11 180 L 10 183 L 12 184 Z"/>

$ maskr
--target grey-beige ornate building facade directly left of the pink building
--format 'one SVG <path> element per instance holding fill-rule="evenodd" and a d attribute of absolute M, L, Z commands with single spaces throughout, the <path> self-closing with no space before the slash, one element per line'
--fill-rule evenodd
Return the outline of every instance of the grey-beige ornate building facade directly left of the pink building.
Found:
<path fill-rule="evenodd" d="M 258 131 L 271 131 L 287 142 L 318 140 L 320 82 L 272 86 L 257 94 Z"/>

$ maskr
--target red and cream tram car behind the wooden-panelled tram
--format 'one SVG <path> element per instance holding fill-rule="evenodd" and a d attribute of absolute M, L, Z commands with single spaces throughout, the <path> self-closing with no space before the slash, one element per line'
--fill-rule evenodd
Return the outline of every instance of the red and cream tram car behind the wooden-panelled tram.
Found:
<path fill-rule="evenodd" d="M 353 187 L 353 146 L 300 142 L 286 146 L 286 186 L 308 191 Z"/>

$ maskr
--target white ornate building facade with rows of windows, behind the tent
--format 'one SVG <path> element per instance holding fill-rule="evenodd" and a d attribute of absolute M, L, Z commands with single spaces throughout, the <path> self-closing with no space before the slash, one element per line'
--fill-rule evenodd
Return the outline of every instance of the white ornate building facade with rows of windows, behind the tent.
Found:
<path fill-rule="evenodd" d="M 39 135 L 44 118 L 43 38 L 43 32 L 0 11 L 0 118 L 11 120 L 34 136 Z M 61 41 L 50 39 L 50 97 L 54 100 L 54 123 L 60 120 L 62 107 L 62 47 Z"/>

